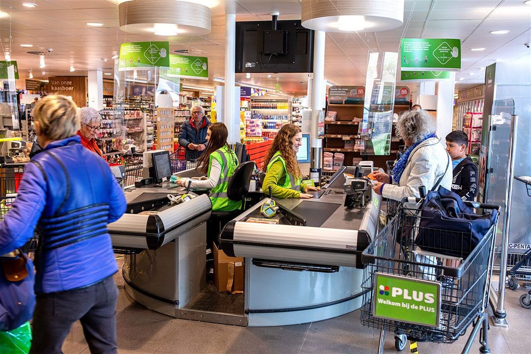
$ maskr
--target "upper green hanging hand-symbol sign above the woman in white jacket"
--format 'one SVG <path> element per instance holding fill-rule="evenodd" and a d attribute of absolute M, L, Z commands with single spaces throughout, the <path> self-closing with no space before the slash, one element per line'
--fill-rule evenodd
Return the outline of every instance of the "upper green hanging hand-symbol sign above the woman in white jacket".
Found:
<path fill-rule="evenodd" d="M 439 38 L 402 38 L 402 71 L 459 71 L 461 40 Z"/>

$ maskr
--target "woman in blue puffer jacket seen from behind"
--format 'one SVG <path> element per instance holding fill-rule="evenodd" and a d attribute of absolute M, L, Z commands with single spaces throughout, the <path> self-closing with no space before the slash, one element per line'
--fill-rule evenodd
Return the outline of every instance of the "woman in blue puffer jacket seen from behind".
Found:
<path fill-rule="evenodd" d="M 30 353 L 61 352 L 78 320 L 92 353 L 115 353 L 118 267 L 107 224 L 125 212 L 124 194 L 105 161 L 80 144 L 70 98 L 47 96 L 31 113 L 43 150 L 0 223 L 0 254 L 21 247 L 35 228 L 40 237 Z"/>

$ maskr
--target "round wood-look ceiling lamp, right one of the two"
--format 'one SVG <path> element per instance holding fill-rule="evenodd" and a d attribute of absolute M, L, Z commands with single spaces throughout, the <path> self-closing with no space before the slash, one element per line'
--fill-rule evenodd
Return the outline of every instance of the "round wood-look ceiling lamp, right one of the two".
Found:
<path fill-rule="evenodd" d="M 302 0 L 302 25 L 326 32 L 376 32 L 404 23 L 404 0 Z"/>

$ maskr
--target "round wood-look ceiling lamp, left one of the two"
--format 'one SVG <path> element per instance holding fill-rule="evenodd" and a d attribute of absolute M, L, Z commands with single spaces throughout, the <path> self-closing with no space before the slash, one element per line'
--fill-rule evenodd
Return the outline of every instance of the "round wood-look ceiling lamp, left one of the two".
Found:
<path fill-rule="evenodd" d="M 120 29 L 157 36 L 201 36 L 210 33 L 210 8 L 188 1 L 131 0 L 118 5 Z"/>

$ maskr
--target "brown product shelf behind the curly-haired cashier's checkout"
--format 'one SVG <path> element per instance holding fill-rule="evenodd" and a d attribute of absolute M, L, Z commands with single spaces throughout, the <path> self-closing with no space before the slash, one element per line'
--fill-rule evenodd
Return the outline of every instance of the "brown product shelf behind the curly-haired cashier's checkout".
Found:
<path fill-rule="evenodd" d="M 364 105 L 329 104 L 327 108 L 326 116 L 329 116 L 329 111 L 335 112 L 335 120 L 324 122 L 323 171 L 337 170 L 341 166 L 353 166 L 362 160 L 374 161 L 375 167 L 385 167 L 387 160 L 396 159 L 399 146 L 404 143 L 396 136 L 394 124 L 389 155 L 365 155 L 362 153 L 361 129 L 359 129 Z M 399 114 L 408 109 L 409 104 L 395 103 L 393 111 Z M 331 153 L 332 157 L 325 153 Z"/>

